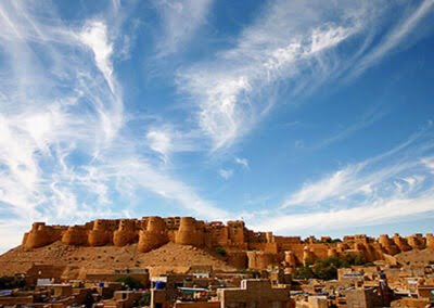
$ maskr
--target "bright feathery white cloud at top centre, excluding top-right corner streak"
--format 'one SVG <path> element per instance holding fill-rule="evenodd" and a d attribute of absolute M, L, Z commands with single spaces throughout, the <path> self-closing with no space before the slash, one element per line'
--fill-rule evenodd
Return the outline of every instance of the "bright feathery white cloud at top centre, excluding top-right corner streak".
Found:
<path fill-rule="evenodd" d="M 273 105 L 268 87 L 296 80 L 356 33 L 356 25 L 329 21 L 308 20 L 308 27 L 299 29 L 291 9 L 277 1 L 243 30 L 235 48 L 180 73 L 179 86 L 199 104 L 199 125 L 214 150 L 231 145 L 268 113 Z"/>

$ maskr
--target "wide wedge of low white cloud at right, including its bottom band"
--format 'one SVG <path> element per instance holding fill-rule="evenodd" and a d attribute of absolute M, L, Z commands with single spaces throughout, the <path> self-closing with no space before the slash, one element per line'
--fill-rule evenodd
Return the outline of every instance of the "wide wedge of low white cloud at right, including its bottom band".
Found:
<path fill-rule="evenodd" d="M 430 125 L 388 152 L 306 182 L 269 213 L 270 219 L 255 223 L 252 217 L 252 223 L 278 232 L 321 232 L 434 216 L 432 138 Z"/>

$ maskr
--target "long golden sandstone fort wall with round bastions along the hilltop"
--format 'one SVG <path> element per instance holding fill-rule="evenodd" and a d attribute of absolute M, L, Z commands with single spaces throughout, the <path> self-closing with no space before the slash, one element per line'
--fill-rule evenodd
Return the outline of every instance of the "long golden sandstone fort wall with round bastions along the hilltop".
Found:
<path fill-rule="evenodd" d="M 328 257 L 359 255 L 367 261 L 385 259 L 411 249 L 434 249 L 433 234 L 413 234 L 403 238 L 395 233 L 379 239 L 365 234 L 344 236 L 343 241 L 322 236 L 302 240 L 299 236 L 276 236 L 272 232 L 254 232 L 243 221 L 205 222 L 192 217 L 157 216 L 142 219 L 97 219 L 84 226 L 47 226 L 35 222 L 24 234 L 27 249 L 62 241 L 75 246 L 125 246 L 137 244 L 141 253 L 173 242 L 209 249 L 222 248 L 228 262 L 243 268 L 264 269 L 283 265 L 295 267 Z"/>

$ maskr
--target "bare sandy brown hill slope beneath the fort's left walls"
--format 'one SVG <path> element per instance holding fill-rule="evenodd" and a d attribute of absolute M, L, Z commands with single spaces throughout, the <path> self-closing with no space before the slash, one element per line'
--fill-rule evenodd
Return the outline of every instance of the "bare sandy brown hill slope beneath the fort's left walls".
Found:
<path fill-rule="evenodd" d="M 137 244 L 124 247 L 90 247 L 65 245 L 56 241 L 31 251 L 17 246 L 1 255 L 0 275 L 26 272 L 34 264 L 66 266 L 69 279 L 82 278 L 85 272 L 107 272 L 127 268 L 148 268 L 153 274 L 167 270 L 186 272 L 191 266 L 234 270 L 214 252 L 190 245 L 168 243 L 152 252 L 140 253 Z"/>

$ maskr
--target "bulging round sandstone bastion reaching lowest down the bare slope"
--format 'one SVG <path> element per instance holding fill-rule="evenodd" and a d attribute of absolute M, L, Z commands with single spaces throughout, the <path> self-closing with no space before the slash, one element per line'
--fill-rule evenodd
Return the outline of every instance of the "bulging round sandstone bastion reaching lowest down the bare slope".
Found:
<path fill-rule="evenodd" d="M 168 242 L 166 222 L 161 217 L 151 216 L 148 218 L 146 230 L 139 232 L 138 249 L 148 253 L 158 248 Z"/>

